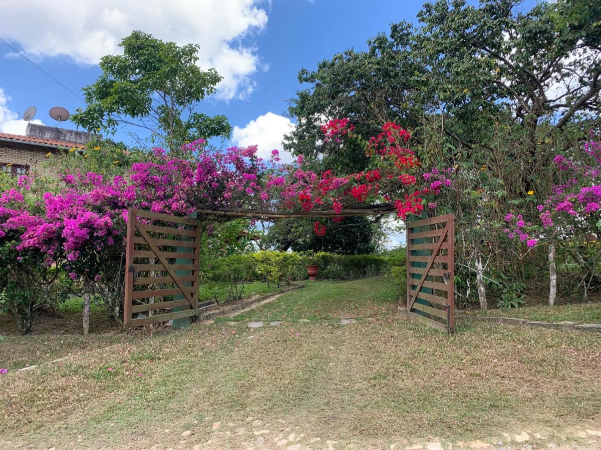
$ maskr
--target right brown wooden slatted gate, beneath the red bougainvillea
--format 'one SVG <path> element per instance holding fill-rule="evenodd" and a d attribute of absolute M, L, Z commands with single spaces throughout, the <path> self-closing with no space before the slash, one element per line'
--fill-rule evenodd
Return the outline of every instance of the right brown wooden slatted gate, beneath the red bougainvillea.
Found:
<path fill-rule="evenodd" d="M 455 216 L 407 223 L 407 311 L 412 320 L 453 332 Z"/>

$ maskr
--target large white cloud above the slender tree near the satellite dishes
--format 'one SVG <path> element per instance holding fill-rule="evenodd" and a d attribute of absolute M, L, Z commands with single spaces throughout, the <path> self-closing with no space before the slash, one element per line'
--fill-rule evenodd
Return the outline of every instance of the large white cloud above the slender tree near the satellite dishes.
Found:
<path fill-rule="evenodd" d="M 0 37 L 31 56 L 68 56 L 80 64 L 120 52 L 132 30 L 180 45 L 200 44 L 201 67 L 224 76 L 223 100 L 248 97 L 260 67 L 256 49 L 240 40 L 261 31 L 267 13 L 261 0 L 3 0 Z"/>

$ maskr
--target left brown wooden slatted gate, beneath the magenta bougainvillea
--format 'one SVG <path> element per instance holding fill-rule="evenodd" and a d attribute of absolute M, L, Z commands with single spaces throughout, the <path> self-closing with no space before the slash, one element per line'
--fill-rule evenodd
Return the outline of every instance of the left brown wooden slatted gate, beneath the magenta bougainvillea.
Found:
<path fill-rule="evenodd" d="M 127 210 L 124 325 L 197 314 L 200 238 L 197 220 Z"/>

